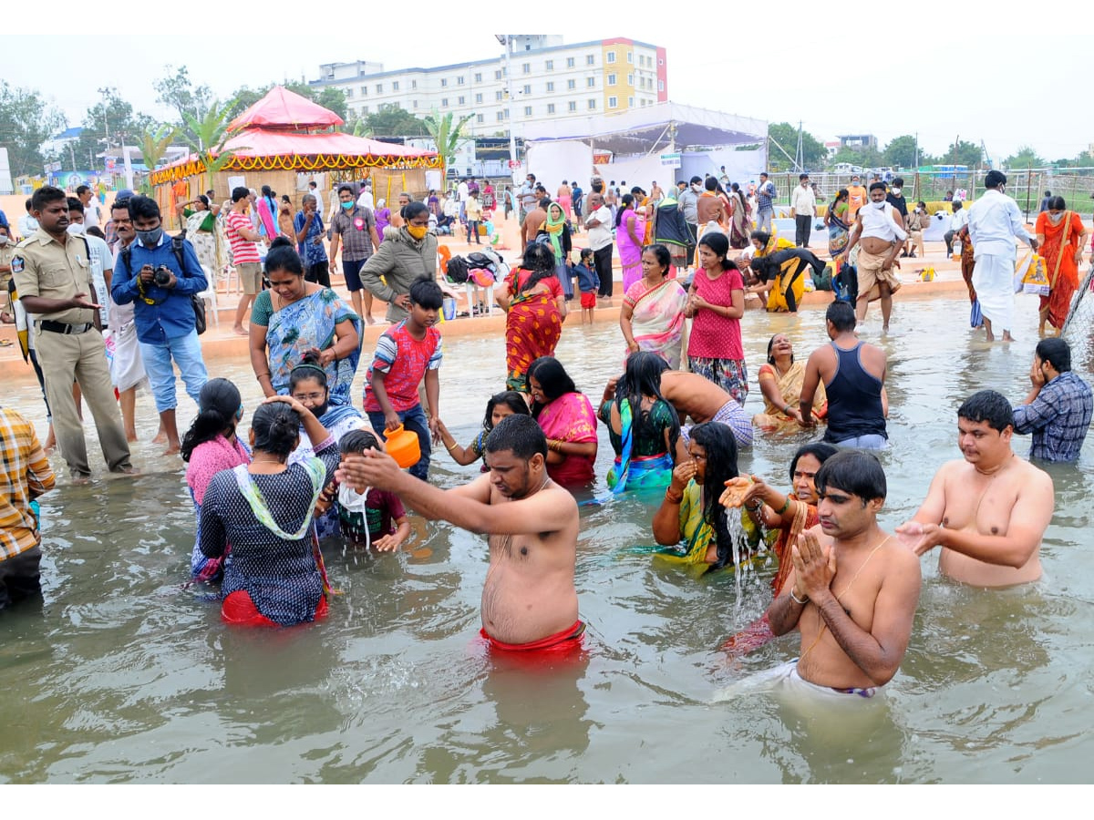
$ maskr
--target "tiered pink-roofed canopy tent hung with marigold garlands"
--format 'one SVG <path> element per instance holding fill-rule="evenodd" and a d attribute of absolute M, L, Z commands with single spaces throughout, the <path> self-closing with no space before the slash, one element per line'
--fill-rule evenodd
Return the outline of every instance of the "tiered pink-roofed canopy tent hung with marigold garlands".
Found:
<path fill-rule="evenodd" d="M 212 180 L 207 179 L 206 165 L 197 154 L 151 174 L 160 207 L 173 213 L 179 198 L 193 198 L 207 187 L 213 188 L 218 200 L 228 199 L 229 179 L 240 177 L 248 188 L 269 185 L 279 197 L 289 195 L 293 210 L 300 207 L 307 180 L 319 174 L 333 174 L 334 179 L 372 178 L 377 196 L 388 189 L 396 195 L 403 190 L 419 197 L 426 194 L 426 171 L 441 167 L 435 152 L 330 130 L 340 125 L 341 117 L 328 108 L 275 86 L 230 124 L 229 131 L 234 133 L 223 150 L 232 156 Z"/>

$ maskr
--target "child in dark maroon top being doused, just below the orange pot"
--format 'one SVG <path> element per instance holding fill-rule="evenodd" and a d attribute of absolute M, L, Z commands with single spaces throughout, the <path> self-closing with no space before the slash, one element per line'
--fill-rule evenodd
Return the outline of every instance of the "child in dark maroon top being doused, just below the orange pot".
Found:
<path fill-rule="evenodd" d="M 380 444 L 366 430 L 351 430 L 338 442 L 338 448 L 344 456 L 361 455 L 380 449 Z M 366 543 L 377 552 L 395 552 L 410 537 L 406 508 L 395 493 L 370 489 L 362 495 L 349 484 L 331 481 L 323 497 L 338 499 L 342 538 L 354 547 Z"/>

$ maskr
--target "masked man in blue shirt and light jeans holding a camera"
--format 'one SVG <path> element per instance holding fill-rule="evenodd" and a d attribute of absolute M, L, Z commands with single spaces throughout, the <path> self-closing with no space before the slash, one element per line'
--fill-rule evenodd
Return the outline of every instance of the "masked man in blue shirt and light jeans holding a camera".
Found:
<path fill-rule="evenodd" d="M 152 383 L 155 409 L 167 436 L 165 455 L 178 453 L 175 423 L 175 371 L 172 360 L 195 402 L 208 380 L 201 359 L 191 295 L 208 288 L 194 246 L 181 247 L 163 233 L 160 206 L 149 197 L 129 200 L 137 239 L 118 255 L 110 294 L 119 305 L 132 303 L 144 370 Z"/>

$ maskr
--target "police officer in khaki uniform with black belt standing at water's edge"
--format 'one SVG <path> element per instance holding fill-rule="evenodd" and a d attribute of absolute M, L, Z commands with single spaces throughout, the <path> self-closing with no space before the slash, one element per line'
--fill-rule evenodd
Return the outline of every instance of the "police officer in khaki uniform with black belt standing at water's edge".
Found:
<path fill-rule="evenodd" d="M 83 424 L 72 398 L 74 379 L 95 419 L 107 467 L 112 472 L 133 472 L 110 387 L 98 305 L 89 298 L 93 285 L 88 245 L 67 232 L 68 198 L 59 188 L 38 188 L 31 212 L 40 227 L 19 244 L 11 268 L 23 306 L 37 316 L 31 332 L 61 455 L 73 480 L 91 478 Z"/>

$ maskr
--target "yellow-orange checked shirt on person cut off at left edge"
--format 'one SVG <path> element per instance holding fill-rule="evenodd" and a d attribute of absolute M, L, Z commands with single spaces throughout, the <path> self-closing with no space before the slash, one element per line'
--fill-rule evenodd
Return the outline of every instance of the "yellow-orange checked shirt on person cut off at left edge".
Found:
<path fill-rule="evenodd" d="M 0 462 L 4 491 L 0 492 L 0 560 L 38 546 L 38 520 L 31 500 L 54 487 L 54 471 L 31 423 L 14 410 L 0 407 Z"/>

